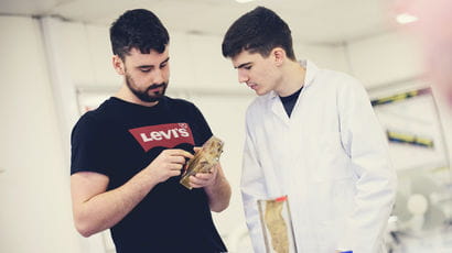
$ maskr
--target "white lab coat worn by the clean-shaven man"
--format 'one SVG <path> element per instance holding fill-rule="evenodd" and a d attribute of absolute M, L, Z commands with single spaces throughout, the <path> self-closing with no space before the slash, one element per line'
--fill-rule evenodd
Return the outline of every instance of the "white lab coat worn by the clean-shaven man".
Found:
<path fill-rule="evenodd" d="M 256 253 L 265 243 L 257 200 L 289 196 L 299 253 L 383 253 L 396 173 L 363 86 L 306 67 L 291 118 L 271 91 L 246 114 L 241 194 Z"/>

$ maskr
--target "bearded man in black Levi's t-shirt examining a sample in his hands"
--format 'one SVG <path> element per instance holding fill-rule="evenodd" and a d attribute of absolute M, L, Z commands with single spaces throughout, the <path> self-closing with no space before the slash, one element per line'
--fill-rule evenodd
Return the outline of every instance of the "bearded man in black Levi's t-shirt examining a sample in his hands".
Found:
<path fill-rule="evenodd" d="M 125 81 L 72 134 L 71 190 L 84 237 L 110 229 L 118 253 L 226 252 L 212 220 L 230 199 L 219 165 L 179 180 L 194 146 L 213 134 L 191 102 L 164 96 L 169 35 L 148 10 L 110 28 L 112 64 Z"/>

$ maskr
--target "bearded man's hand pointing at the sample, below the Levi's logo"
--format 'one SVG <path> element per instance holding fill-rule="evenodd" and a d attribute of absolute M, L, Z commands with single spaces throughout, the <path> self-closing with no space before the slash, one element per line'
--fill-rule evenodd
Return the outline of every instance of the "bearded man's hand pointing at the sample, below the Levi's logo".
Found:
<path fill-rule="evenodd" d="M 193 155 L 184 150 L 164 150 L 157 156 L 146 169 L 155 178 L 158 183 L 168 180 L 168 178 L 181 175 L 181 169 L 186 158 Z"/>

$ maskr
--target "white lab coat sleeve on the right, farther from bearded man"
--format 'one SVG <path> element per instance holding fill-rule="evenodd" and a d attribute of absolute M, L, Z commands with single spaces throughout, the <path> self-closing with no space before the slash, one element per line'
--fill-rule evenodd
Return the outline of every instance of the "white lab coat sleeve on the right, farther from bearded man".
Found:
<path fill-rule="evenodd" d="M 358 81 L 353 80 L 338 91 L 337 108 L 342 143 L 352 160 L 357 183 L 355 208 L 336 249 L 380 253 L 397 187 L 387 140 Z"/>

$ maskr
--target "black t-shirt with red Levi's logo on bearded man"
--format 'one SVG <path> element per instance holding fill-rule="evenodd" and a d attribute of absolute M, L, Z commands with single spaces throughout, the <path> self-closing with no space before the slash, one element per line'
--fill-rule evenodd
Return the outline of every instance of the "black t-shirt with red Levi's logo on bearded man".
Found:
<path fill-rule="evenodd" d="M 118 98 L 86 112 L 72 133 L 71 174 L 96 172 L 115 189 L 147 167 L 163 150 L 193 153 L 212 131 L 191 102 L 164 97 L 154 107 Z M 215 229 L 207 196 L 189 190 L 179 177 L 158 184 L 111 228 L 118 253 L 226 252 Z"/>

